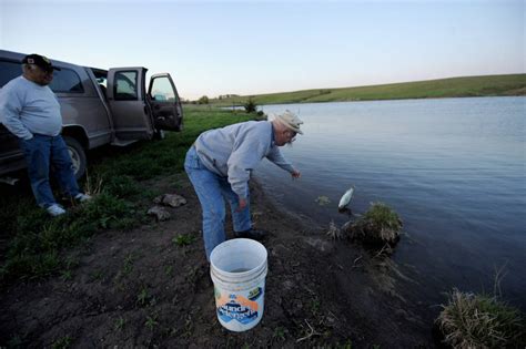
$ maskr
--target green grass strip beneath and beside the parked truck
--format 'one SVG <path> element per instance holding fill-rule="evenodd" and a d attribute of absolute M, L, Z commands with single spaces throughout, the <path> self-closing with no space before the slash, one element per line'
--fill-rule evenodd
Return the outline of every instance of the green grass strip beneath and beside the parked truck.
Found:
<path fill-rule="evenodd" d="M 184 109 L 184 131 L 165 140 L 127 148 L 104 148 L 89 167 L 94 199 L 51 218 L 29 191 L 0 197 L 0 220 L 8 245 L 0 260 L 0 284 L 62 271 L 70 277 L 65 252 L 104 229 L 125 230 L 150 222 L 146 205 L 158 195 L 140 182 L 183 172 L 184 156 L 196 136 L 209 129 L 253 119 L 243 112 L 210 107 Z M 97 154 L 97 152 L 95 152 Z M 87 187 L 87 183 L 83 184 Z"/>

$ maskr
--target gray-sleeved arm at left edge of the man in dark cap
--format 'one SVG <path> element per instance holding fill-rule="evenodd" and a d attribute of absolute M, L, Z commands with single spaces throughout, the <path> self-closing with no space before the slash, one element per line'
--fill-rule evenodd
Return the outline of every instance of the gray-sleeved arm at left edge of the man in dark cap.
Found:
<path fill-rule="evenodd" d="M 33 134 L 20 121 L 22 103 L 20 96 L 10 89 L 0 90 L 0 122 L 12 134 L 22 140 L 31 140 Z"/>

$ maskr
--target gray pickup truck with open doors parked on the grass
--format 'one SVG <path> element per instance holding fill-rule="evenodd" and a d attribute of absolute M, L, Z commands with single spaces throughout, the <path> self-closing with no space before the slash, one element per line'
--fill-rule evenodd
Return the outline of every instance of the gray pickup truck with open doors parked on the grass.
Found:
<path fill-rule="evenodd" d="M 24 57 L 0 50 L 0 89 L 22 74 Z M 61 69 L 53 72 L 50 88 L 61 105 L 62 136 L 77 178 L 85 172 L 88 150 L 159 138 L 164 130 L 183 129 L 183 110 L 170 74 L 152 75 L 146 89 L 143 66 L 103 70 L 51 61 Z M 0 123 L 0 179 L 24 167 L 18 138 Z"/>

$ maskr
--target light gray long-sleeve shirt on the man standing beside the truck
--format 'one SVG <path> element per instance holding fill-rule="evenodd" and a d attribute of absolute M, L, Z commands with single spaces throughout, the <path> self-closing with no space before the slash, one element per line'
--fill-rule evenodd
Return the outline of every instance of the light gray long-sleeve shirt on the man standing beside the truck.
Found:
<path fill-rule="evenodd" d="M 0 122 L 23 140 L 32 138 L 33 133 L 55 136 L 62 129 L 60 104 L 53 91 L 23 76 L 0 90 Z"/>

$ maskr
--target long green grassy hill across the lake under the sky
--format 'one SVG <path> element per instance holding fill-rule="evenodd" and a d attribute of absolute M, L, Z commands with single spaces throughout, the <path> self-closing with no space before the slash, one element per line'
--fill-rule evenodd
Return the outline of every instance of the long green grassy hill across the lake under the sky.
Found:
<path fill-rule="evenodd" d="M 401 99 L 526 95 L 526 74 L 451 78 L 384 85 L 318 89 L 210 100 L 215 105 L 345 102 Z"/>

